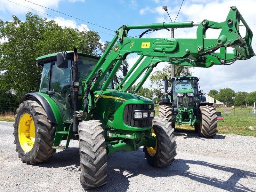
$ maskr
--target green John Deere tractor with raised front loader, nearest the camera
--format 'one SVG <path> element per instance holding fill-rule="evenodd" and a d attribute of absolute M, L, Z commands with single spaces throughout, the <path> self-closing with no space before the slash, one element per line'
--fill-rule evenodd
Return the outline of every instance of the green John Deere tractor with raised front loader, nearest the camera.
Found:
<path fill-rule="evenodd" d="M 239 34 L 240 20 L 246 27 L 244 38 Z M 197 27 L 197 38 L 142 38 L 149 31 L 191 27 Z M 208 28 L 221 29 L 219 38 L 206 38 Z M 147 30 L 136 38 L 127 35 L 133 29 Z M 116 151 L 144 146 L 150 165 L 170 165 L 177 148 L 172 123 L 155 117 L 153 101 L 128 93 L 130 87 L 142 76 L 135 88 L 139 91 L 163 61 L 206 68 L 250 59 L 255 56 L 251 44 L 252 31 L 233 6 L 221 23 L 123 25 L 101 57 L 76 49 L 38 57 L 36 65 L 43 68 L 40 89 L 20 99 L 13 133 L 16 151 L 22 162 L 36 164 L 48 160 L 56 149 L 67 149 L 70 139 L 79 140 L 83 188 L 107 182 L 107 156 Z M 227 47 L 234 52 L 227 53 Z M 220 52 L 215 53 L 217 49 Z M 140 58 L 129 72 L 123 66 L 124 79 L 114 83 L 122 61 L 131 53 Z"/>

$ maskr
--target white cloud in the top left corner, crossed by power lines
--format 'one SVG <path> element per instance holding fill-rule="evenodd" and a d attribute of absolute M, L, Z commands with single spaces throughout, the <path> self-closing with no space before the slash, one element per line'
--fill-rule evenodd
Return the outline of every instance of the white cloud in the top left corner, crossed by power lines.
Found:
<path fill-rule="evenodd" d="M 31 9 L 29 8 L 35 9 L 40 12 L 45 12 L 46 8 L 38 6 L 36 4 L 40 4 L 45 7 L 56 9 L 58 8 L 58 4 L 60 3 L 60 0 L 44 0 L 44 1 L 40 1 L 40 3 L 38 3 L 37 0 L 30 0 L 32 3 L 36 3 L 36 4 L 32 4 L 27 1 L 20 1 L 20 0 L 12 0 L 12 1 L 17 4 L 14 4 L 6 0 L 0 0 L 0 4 L 1 4 L 0 10 L 4 12 L 10 11 L 12 12 L 12 14 L 24 14 L 29 11 L 31 12 Z M 23 5 L 25 7 L 20 6 L 18 4 Z M 26 7 L 29 7 L 29 8 L 26 8 Z"/>

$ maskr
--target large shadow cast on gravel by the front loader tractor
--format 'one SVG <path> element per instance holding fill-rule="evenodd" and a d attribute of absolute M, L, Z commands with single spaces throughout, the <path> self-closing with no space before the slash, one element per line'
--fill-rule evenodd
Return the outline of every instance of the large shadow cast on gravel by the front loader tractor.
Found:
<path fill-rule="evenodd" d="M 75 166 L 74 166 L 75 164 Z M 211 176 L 203 175 L 197 172 L 190 172 L 189 167 L 191 164 L 201 165 L 201 169 L 209 167 L 217 171 L 224 171 L 232 173 L 232 176 L 228 180 L 216 179 Z M 73 166 L 71 166 L 73 165 Z M 46 168 L 57 168 L 57 167 L 67 167 L 64 168 L 65 171 L 69 172 L 80 172 L 80 160 L 79 160 L 79 148 L 68 148 L 64 151 L 57 152 L 53 157 L 39 165 L 40 167 Z M 206 161 L 194 161 L 185 159 L 175 159 L 172 165 L 164 168 L 154 168 L 151 167 L 147 160 L 144 158 L 143 151 L 133 151 L 129 153 L 117 152 L 108 156 L 108 183 L 102 187 L 85 190 L 88 192 L 101 192 L 101 191 L 118 191 L 124 192 L 129 189 L 130 181 L 138 183 L 140 191 L 142 186 L 140 185 L 140 180 L 134 178 L 138 175 L 144 175 L 151 178 L 162 178 L 162 177 L 172 177 L 180 175 L 182 177 L 187 177 L 191 180 L 203 183 L 205 185 L 214 186 L 220 189 L 228 191 L 247 191 L 253 192 L 255 188 L 247 188 L 238 183 L 241 178 L 253 177 L 256 178 L 256 172 L 244 171 L 241 169 L 220 166 L 218 164 L 211 164 Z M 135 186 L 137 186 L 135 184 Z M 139 188 L 138 188 L 139 190 Z M 153 190 L 153 189 L 152 189 Z"/>

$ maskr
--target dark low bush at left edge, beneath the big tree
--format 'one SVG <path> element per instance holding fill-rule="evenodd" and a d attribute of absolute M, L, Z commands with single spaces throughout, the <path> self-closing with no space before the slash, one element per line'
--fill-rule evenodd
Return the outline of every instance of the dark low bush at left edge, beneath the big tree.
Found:
<path fill-rule="evenodd" d="M 11 92 L 0 92 L 0 114 L 15 112 L 19 106 L 17 95 Z"/>

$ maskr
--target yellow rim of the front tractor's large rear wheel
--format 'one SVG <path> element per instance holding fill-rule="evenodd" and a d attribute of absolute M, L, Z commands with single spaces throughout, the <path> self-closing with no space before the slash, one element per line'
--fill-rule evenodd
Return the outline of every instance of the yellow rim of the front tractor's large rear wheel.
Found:
<path fill-rule="evenodd" d="M 20 117 L 18 135 L 20 146 L 25 152 L 31 151 L 36 138 L 36 130 L 34 121 L 28 113 L 24 113 Z"/>

